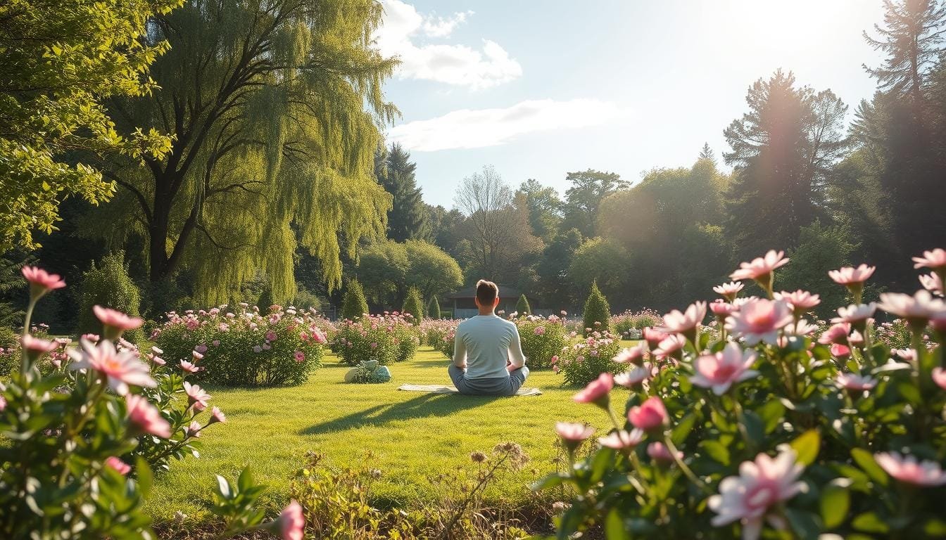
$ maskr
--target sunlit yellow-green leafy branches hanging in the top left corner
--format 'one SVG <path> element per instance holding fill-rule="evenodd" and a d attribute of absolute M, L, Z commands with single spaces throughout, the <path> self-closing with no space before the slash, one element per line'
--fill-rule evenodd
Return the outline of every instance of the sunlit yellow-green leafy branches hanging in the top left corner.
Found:
<path fill-rule="evenodd" d="M 154 90 L 149 64 L 166 43 L 146 40 L 149 20 L 181 0 L 58 3 L 11 0 L 0 5 L 0 252 L 38 246 L 68 197 L 93 203 L 114 191 L 95 167 L 63 159 L 86 149 L 160 157 L 170 140 L 155 130 L 114 130 L 104 101 Z"/>

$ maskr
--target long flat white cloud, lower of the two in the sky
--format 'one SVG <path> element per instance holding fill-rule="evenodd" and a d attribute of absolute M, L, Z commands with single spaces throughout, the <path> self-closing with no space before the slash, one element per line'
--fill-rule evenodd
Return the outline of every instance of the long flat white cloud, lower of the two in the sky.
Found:
<path fill-rule="evenodd" d="M 627 117 L 630 112 L 598 99 L 521 101 L 504 109 L 461 109 L 394 126 L 391 141 L 414 151 L 482 148 L 507 143 L 534 131 L 586 128 Z"/>

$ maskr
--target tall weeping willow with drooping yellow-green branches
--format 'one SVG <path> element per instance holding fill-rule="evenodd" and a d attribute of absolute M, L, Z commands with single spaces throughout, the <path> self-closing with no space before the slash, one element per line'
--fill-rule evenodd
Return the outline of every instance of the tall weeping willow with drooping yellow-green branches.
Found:
<path fill-rule="evenodd" d="M 194 300 L 226 302 L 261 271 L 275 302 L 295 293 L 297 247 L 342 280 L 342 250 L 382 235 L 391 198 L 374 177 L 382 94 L 396 61 L 374 48 L 374 0 L 190 0 L 153 19 L 170 50 L 161 90 L 114 101 L 128 126 L 174 137 L 162 159 L 103 164 L 119 196 L 99 213 L 116 242 L 146 239 L 149 278 L 186 269 Z"/>

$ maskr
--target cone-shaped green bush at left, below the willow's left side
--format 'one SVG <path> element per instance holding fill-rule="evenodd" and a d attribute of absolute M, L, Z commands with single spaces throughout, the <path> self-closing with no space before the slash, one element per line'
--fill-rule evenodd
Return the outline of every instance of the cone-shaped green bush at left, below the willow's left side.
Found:
<path fill-rule="evenodd" d="M 96 334 L 101 327 L 92 312 L 94 305 L 110 307 L 131 317 L 140 317 L 141 293 L 128 275 L 125 252 L 105 255 L 97 267 L 93 261 L 92 268 L 82 274 L 77 328 L 79 334 Z M 138 328 L 127 333 L 125 339 L 137 343 L 144 340 L 144 337 L 144 333 Z"/>

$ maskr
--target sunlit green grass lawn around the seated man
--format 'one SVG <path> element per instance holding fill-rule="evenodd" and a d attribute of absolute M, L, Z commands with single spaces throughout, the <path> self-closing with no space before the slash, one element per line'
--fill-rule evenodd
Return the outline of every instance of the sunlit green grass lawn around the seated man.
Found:
<path fill-rule="evenodd" d="M 449 382 L 447 358 L 430 348 L 391 369 L 394 379 L 386 384 L 344 384 L 348 367 L 329 356 L 301 386 L 209 389 L 227 423 L 206 430 L 200 459 L 173 462 L 155 480 L 149 514 L 157 522 L 175 511 L 201 518 L 214 473 L 236 478 L 245 465 L 270 486 L 269 502 L 282 504 L 307 450 L 324 453 L 333 465 L 363 461 L 372 452 L 371 466 L 383 473 L 374 488 L 376 503 L 410 506 L 434 496 L 428 476 L 468 466 L 470 452 L 488 452 L 503 441 L 521 444 L 531 462 L 488 496 L 525 506 L 535 498 L 528 484 L 554 468 L 556 421 L 609 425 L 603 410 L 573 403 L 575 389 L 562 388 L 552 372 L 534 372 L 526 381 L 543 395 L 493 398 L 397 391 L 404 383 Z"/>

